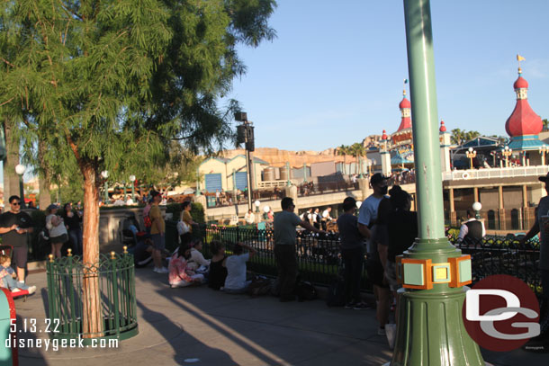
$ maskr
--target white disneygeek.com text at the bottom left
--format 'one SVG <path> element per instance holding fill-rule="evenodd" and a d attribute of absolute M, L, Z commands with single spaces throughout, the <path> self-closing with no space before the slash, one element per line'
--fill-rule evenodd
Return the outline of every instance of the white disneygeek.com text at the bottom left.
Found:
<path fill-rule="evenodd" d="M 46 351 L 58 351 L 59 348 L 118 348 L 118 339 L 90 339 L 90 344 L 84 344 L 81 335 L 72 339 L 49 339 L 49 338 L 19 338 L 7 337 L 4 342 L 6 348 L 45 348 Z"/>

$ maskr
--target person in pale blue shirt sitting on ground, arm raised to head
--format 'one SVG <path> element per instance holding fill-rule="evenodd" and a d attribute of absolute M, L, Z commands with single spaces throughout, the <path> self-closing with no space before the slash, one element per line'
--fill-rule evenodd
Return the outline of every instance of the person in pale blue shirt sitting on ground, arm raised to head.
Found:
<path fill-rule="evenodd" d="M 245 248 L 249 253 L 243 254 Z M 246 281 L 246 263 L 256 255 L 256 249 L 239 242 L 234 246 L 232 253 L 233 255 L 225 260 L 227 278 L 222 290 L 227 293 L 245 293 L 251 282 Z"/>

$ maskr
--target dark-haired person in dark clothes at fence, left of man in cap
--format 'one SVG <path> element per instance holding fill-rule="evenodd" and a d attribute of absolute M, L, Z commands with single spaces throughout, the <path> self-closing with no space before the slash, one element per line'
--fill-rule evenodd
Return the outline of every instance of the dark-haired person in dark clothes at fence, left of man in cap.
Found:
<path fill-rule="evenodd" d="M 345 263 L 345 307 L 357 310 L 367 308 L 360 297 L 360 277 L 364 261 L 364 237 L 358 230 L 358 219 L 355 216 L 356 200 L 347 197 L 343 201 L 343 215 L 338 217 L 341 256 Z"/>

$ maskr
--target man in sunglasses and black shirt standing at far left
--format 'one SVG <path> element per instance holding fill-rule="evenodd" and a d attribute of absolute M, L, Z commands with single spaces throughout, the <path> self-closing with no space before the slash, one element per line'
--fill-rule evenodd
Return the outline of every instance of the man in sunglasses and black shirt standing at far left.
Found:
<path fill-rule="evenodd" d="M 21 210 L 21 199 L 19 196 L 11 196 L 9 199 L 10 210 L 0 215 L 0 234 L 3 244 L 14 247 L 13 263 L 16 267 L 17 279 L 25 281 L 25 268 L 27 266 L 27 234 L 31 233 L 34 227 L 31 217 Z"/>

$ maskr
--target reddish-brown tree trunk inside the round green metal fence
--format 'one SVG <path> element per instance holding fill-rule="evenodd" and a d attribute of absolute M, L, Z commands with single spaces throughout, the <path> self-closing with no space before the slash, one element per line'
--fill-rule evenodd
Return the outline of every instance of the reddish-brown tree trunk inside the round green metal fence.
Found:
<path fill-rule="evenodd" d="M 79 162 L 84 175 L 84 315 L 85 337 L 103 336 L 99 290 L 99 186 L 94 165 Z"/>

